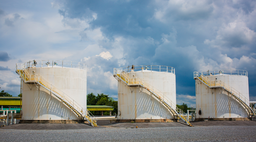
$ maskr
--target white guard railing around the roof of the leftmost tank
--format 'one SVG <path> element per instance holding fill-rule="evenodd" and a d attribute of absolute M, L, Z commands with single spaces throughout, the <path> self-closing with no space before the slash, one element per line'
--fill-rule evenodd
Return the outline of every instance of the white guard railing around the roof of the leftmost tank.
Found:
<path fill-rule="evenodd" d="M 43 67 L 62 67 L 62 68 L 76 68 L 86 71 L 86 64 L 74 61 L 64 61 L 64 60 L 39 60 L 39 61 L 29 61 L 23 64 L 24 68 L 43 68 Z"/>

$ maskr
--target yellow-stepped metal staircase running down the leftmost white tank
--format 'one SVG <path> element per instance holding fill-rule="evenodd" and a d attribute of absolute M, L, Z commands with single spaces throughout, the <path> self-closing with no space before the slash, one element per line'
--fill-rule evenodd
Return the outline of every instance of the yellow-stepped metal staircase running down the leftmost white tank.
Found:
<path fill-rule="evenodd" d="M 79 118 L 86 120 L 93 127 L 97 127 L 97 119 L 88 109 L 82 108 L 76 101 L 74 101 L 71 97 L 69 97 L 57 87 L 53 86 L 41 75 L 29 74 L 28 71 L 24 68 L 23 64 L 21 64 L 20 67 L 18 66 L 18 64 L 16 64 L 16 73 L 19 74 L 20 78 L 23 80 L 24 83 L 35 85 L 38 84 L 42 86 L 50 92 L 51 97 L 52 94 L 56 96 L 62 103 L 71 108 Z"/>

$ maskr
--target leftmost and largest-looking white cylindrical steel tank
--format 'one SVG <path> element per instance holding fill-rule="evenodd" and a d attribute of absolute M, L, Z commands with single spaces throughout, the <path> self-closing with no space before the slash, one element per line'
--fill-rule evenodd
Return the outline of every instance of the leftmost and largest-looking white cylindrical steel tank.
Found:
<path fill-rule="evenodd" d="M 38 74 L 86 110 L 86 65 L 71 61 L 36 61 L 24 64 L 29 74 Z M 54 65 L 55 62 L 56 64 Z M 81 119 L 66 104 L 39 84 L 22 84 L 23 120 Z M 37 88 L 38 87 L 38 88 Z M 30 90 L 31 89 L 31 90 Z"/>

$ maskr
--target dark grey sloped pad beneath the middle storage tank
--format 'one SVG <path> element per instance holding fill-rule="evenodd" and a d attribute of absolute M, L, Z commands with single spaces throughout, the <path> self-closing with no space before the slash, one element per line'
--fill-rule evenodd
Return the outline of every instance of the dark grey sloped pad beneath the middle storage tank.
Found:
<path fill-rule="evenodd" d="M 105 126 L 124 128 L 155 128 L 155 127 L 189 127 L 177 122 L 156 122 L 156 123 L 110 123 Z"/>

